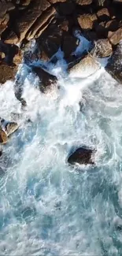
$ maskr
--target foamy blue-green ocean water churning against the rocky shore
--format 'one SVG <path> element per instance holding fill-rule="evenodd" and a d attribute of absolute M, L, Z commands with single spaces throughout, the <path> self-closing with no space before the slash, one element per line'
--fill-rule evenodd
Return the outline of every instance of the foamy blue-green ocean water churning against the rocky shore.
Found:
<path fill-rule="evenodd" d="M 20 115 L 0 161 L 0 255 L 122 254 L 122 87 L 103 67 L 83 79 L 65 66 L 48 66 L 60 89 L 43 95 L 20 65 L 24 110 L 0 87 L 0 116 Z M 95 165 L 68 165 L 82 145 Z"/>

